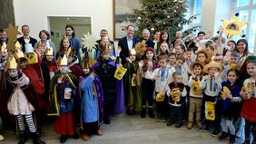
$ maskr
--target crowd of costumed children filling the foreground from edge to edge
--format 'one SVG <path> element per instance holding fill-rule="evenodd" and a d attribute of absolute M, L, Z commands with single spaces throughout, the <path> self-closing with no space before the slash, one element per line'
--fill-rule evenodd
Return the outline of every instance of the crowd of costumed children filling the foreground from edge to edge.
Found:
<path fill-rule="evenodd" d="M 166 34 L 163 31 L 160 40 Z M 124 65 L 119 58 L 122 50 L 117 48 L 113 56 L 109 42 L 103 37 L 96 62 L 89 48 L 79 62 L 69 37 L 62 39 L 56 56 L 51 48 L 23 53 L 18 44 L 12 51 L 1 45 L 0 80 L 7 91 L 1 108 L 15 116 L 19 144 L 27 139 L 26 127 L 35 144 L 45 143 L 40 133 L 46 116 L 55 118 L 61 143 L 69 137 L 79 139 L 77 125 L 85 141 L 91 134 L 101 136 L 100 124 L 109 124 L 109 116 L 122 113 L 124 105 L 128 115 L 141 112 L 145 118 L 148 110 L 150 118 L 167 126 L 175 122 L 180 128 L 187 120 L 186 127 L 192 130 L 193 124 L 197 129 L 203 124 L 205 132 L 220 140 L 230 136 L 230 143 L 241 137 L 244 126 L 246 143 L 251 133 L 256 137 L 256 57 L 249 56 L 245 39 L 222 45 L 192 42 L 194 47 L 178 39 L 173 47 L 159 41 L 156 49 L 142 41 L 130 50 L 130 61 Z M 126 72 L 117 80 L 122 68 Z"/>

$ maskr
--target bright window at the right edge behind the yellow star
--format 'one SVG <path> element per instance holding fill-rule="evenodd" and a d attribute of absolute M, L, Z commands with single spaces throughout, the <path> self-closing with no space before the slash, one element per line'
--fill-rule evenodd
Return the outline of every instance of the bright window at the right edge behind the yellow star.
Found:
<path fill-rule="evenodd" d="M 253 53 L 256 46 L 256 0 L 237 0 L 236 13 L 239 13 L 239 21 L 249 22 L 241 31 L 246 35 L 249 51 Z M 234 36 L 234 40 L 240 39 L 240 36 Z"/>

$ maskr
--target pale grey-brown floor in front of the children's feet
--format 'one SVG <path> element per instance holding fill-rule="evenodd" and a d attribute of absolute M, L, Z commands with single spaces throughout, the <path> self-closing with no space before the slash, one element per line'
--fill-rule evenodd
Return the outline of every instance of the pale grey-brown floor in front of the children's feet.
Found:
<path fill-rule="evenodd" d="M 202 130 L 187 130 L 184 126 L 176 129 L 174 126 L 167 127 L 165 122 L 140 118 L 139 115 L 117 115 L 111 118 L 110 125 L 103 125 L 103 136 L 92 136 L 89 141 L 82 139 L 68 139 L 66 144 L 217 144 L 221 142 L 216 137 Z M 0 144 L 14 144 L 18 142 L 12 130 L 2 130 L 5 140 Z M 57 144 L 59 136 L 54 133 L 53 122 L 48 122 L 43 128 L 42 139 L 47 144 Z M 28 144 L 32 140 L 28 140 Z"/>

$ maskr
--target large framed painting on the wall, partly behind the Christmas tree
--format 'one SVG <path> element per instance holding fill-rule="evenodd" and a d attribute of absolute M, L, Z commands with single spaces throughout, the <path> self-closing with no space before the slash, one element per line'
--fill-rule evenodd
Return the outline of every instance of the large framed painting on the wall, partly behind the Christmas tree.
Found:
<path fill-rule="evenodd" d="M 133 9 L 140 8 L 139 0 L 113 0 L 113 38 L 115 40 L 125 36 L 125 28 L 133 24 L 136 18 Z"/>

